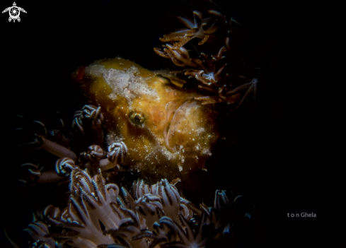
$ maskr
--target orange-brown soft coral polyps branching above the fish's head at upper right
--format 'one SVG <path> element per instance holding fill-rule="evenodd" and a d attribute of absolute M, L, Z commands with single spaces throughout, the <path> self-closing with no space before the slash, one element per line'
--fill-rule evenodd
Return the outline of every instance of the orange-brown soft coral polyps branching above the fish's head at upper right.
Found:
<path fill-rule="evenodd" d="M 214 8 L 207 11 L 209 17 L 203 18 L 202 13 L 197 10 L 192 12 L 193 21 L 190 20 L 190 18 L 178 17 L 178 20 L 180 20 L 186 28 L 178 29 L 172 33 L 163 35 L 160 40 L 170 43 L 163 45 L 163 50 L 155 48 L 154 51 L 161 57 L 171 59 L 177 66 L 190 66 L 194 68 L 185 69 L 185 76 L 189 79 L 195 78 L 198 82 L 202 83 L 198 88 L 206 90 L 205 93 L 208 95 L 195 98 L 196 100 L 202 100 L 202 105 L 219 102 L 226 102 L 231 105 L 238 102 L 237 107 L 240 107 L 251 92 L 254 93 L 254 96 L 256 95 L 257 81 L 245 83 L 244 85 L 238 86 L 238 88 L 232 89 L 233 82 L 229 80 L 229 76 L 232 76 L 231 78 L 236 78 L 237 75 L 229 75 L 229 73 L 223 72 L 226 70 L 227 64 L 225 61 L 227 59 L 234 64 L 234 61 L 225 55 L 227 53 L 231 54 L 231 52 L 232 54 L 235 53 L 235 51 L 232 50 L 229 35 L 233 33 L 233 28 L 237 27 L 232 25 L 232 23 L 236 23 L 238 28 L 242 27 L 242 25 L 233 18 L 226 18 L 226 16 L 221 13 L 221 9 L 217 4 L 214 4 L 212 1 L 209 1 L 209 3 L 214 5 Z M 210 37 L 213 38 L 210 39 Z M 190 58 L 190 54 L 184 46 L 194 38 L 200 39 L 200 42 L 198 42 L 200 46 L 209 41 L 213 44 L 219 42 L 217 43 L 221 44 L 219 52 L 211 56 L 200 52 L 200 57 L 202 57 L 202 59 Z M 224 59 L 224 62 L 221 63 L 222 59 Z M 243 66 L 243 64 L 241 66 Z M 228 69 L 228 71 L 229 70 L 230 69 Z M 224 76 L 225 74 L 226 76 Z M 238 85 L 238 82 L 236 84 Z M 239 98 L 240 93 L 238 93 L 238 91 L 243 88 L 248 88 L 248 90 L 243 94 L 242 98 Z"/>

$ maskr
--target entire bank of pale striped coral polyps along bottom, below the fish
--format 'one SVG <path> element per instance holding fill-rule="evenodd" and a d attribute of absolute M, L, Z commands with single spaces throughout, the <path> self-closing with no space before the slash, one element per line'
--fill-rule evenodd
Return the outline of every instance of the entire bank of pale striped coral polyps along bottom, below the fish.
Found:
<path fill-rule="evenodd" d="M 34 214 L 27 230 L 34 239 L 33 245 L 54 247 L 63 242 L 86 248 L 202 248 L 207 236 L 214 237 L 221 230 L 230 232 L 231 201 L 226 191 L 215 192 L 213 207 L 202 203 L 198 208 L 178 193 L 174 184 L 180 179 L 172 184 L 161 179 L 151 188 L 143 180 L 137 180 L 132 186 L 135 201 L 123 187 L 125 200 L 122 200 L 119 187 L 105 184 L 100 169 L 91 177 L 88 172 L 74 168 L 70 177 L 71 196 L 67 207 L 60 211 L 50 205 Z M 204 225 L 214 229 L 203 229 Z"/>

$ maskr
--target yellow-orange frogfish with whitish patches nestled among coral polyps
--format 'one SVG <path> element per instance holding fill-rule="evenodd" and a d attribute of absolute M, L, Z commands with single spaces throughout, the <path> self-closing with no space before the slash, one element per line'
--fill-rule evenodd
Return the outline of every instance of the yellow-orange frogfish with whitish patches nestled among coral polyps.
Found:
<path fill-rule="evenodd" d="M 101 107 L 108 145 L 127 145 L 132 170 L 172 179 L 205 168 L 219 137 L 217 112 L 183 90 L 176 76 L 115 58 L 80 67 L 73 78 Z"/>

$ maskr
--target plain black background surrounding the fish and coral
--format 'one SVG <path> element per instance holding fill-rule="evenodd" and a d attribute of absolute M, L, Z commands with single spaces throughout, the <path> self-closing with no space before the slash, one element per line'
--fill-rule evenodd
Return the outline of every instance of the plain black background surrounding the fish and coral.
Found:
<path fill-rule="evenodd" d="M 5 2 L 1 8 L 12 5 Z M 328 22 L 321 20 L 326 10 L 287 2 L 217 3 L 244 25 L 244 52 L 266 72 L 259 107 L 244 107 L 230 123 L 239 143 L 224 148 L 229 156 L 223 157 L 224 166 L 217 168 L 215 178 L 220 189 L 231 184 L 261 203 L 265 241 L 244 247 L 345 247 L 345 192 L 339 193 L 345 163 L 335 160 L 338 148 L 333 138 L 338 132 L 328 106 L 337 86 L 330 82 L 335 61 L 327 56 L 333 40 Z M 21 13 L 20 23 L 8 23 L 8 13 L 0 18 L 1 122 L 8 124 L 3 129 L 1 207 L 6 211 L 1 217 L 12 235 L 28 211 L 16 194 L 20 165 L 11 149 L 16 114 L 34 118 L 72 105 L 76 98 L 69 73 L 96 59 L 120 56 L 148 69 L 166 68 L 153 52 L 161 46 L 158 38 L 171 31 L 166 16 L 174 8 L 193 10 L 187 1 L 16 4 L 28 12 Z M 254 58 L 253 51 L 261 47 L 267 48 Z M 302 212 L 317 217 L 287 217 Z"/>

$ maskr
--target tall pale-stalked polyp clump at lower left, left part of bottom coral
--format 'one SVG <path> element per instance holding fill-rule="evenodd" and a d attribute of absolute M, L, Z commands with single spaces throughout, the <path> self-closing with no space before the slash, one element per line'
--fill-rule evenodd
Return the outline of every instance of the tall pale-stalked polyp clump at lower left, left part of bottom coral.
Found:
<path fill-rule="evenodd" d="M 50 237 L 67 240 L 74 247 L 95 248 L 98 244 L 114 244 L 113 238 L 103 233 L 100 223 L 105 230 L 120 227 L 120 221 L 125 215 L 117 204 L 118 194 L 119 187 L 116 184 L 105 184 L 100 169 L 98 175 L 91 178 L 87 172 L 76 168 L 71 172 L 71 196 L 67 208 L 60 212 L 59 208 L 47 206 L 35 218 L 35 222 L 40 218 L 63 228 L 62 232 L 53 233 Z M 49 233 L 41 228 L 40 223 L 30 225 L 29 228 L 36 230 L 34 239 L 40 235 L 38 228 Z"/>

